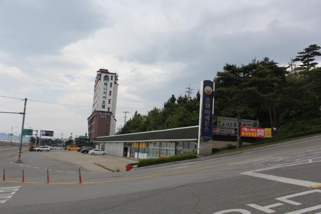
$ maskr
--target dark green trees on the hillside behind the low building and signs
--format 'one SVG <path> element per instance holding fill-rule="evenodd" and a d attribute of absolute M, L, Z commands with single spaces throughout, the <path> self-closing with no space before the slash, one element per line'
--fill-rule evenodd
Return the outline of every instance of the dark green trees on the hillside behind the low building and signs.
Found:
<path fill-rule="evenodd" d="M 226 64 L 213 80 L 214 115 L 258 119 L 260 127 L 277 128 L 278 137 L 321 132 L 321 68 L 315 62 L 320 49 L 316 44 L 304 48 L 291 67 L 268 57 Z M 199 100 L 199 92 L 195 98 L 172 95 L 161 109 L 147 115 L 136 111 L 117 134 L 198 125 Z"/>

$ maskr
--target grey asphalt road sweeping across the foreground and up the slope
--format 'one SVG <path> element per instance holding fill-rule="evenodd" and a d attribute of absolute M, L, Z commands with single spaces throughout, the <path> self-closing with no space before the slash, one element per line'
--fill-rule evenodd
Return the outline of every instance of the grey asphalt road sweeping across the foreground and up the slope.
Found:
<path fill-rule="evenodd" d="M 62 184 L 0 181 L 1 213 L 321 213 L 321 138 L 129 172 L 83 170 L 82 184 L 78 166 L 22 155 L 23 166 L 0 157 L 8 179 L 20 182 L 28 168 L 28 180 L 45 182 L 51 168 L 50 179 Z"/>

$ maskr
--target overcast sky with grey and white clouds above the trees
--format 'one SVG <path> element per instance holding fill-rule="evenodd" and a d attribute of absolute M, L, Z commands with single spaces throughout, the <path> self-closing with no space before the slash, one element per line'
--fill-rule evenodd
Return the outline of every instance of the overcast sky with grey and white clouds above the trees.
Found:
<path fill-rule="evenodd" d="M 119 127 L 123 111 L 161 108 L 225 63 L 267 56 L 284 65 L 321 45 L 320 8 L 318 0 L 0 0 L 0 96 L 29 99 L 25 128 L 84 135 L 96 71 L 108 69 L 119 73 Z M 22 112 L 23 102 L 0 97 L 0 111 Z M 19 135 L 21 125 L 22 115 L 0 113 L 0 133 L 17 126 Z"/>

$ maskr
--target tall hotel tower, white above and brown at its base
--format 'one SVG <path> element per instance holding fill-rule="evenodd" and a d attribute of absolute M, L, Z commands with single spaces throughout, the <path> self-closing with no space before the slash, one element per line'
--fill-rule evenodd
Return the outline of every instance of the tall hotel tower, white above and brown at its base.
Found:
<path fill-rule="evenodd" d="M 115 135 L 118 75 L 99 69 L 95 80 L 92 113 L 88 117 L 90 142 L 97 137 Z"/>

